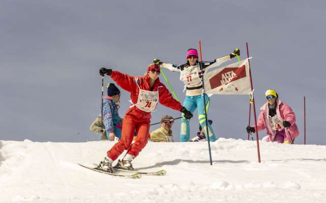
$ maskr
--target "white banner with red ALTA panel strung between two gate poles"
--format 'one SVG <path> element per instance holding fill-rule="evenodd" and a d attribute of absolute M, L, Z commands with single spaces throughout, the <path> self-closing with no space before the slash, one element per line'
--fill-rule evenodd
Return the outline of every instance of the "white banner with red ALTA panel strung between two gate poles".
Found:
<path fill-rule="evenodd" d="M 209 96 L 212 94 L 248 94 L 251 92 L 248 58 L 205 73 L 204 85 L 205 92 Z"/>

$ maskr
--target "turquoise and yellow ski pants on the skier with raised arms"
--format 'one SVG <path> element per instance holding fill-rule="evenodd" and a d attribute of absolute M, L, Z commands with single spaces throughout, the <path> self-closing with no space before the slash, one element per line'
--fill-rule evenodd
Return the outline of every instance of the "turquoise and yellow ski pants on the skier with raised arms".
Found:
<path fill-rule="evenodd" d="M 186 96 L 186 99 L 184 101 L 184 107 L 190 111 L 191 113 L 193 113 L 196 108 L 198 110 L 198 120 L 199 120 L 199 124 L 201 125 L 202 129 L 204 129 L 204 133 L 205 136 L 207 138 L 207 132 L 206 132 L 206 120 L 205 120 L 205 110 L 204 108 L 206 108 L 206 112 L 208 113 L 209 107 L 210 107 L 210 97 L 208 97 L 205 94 L 205 100 L 206 100 L 206 105 L 204 105 L 204 98 L 203 95 L 196 95 L 196 96 Z M 210 125 L 210 123 L 208 123 L 208 127 L 209 127 L 209 135 L 210 135 L 210 141 L 211 142 L 215 142 L 216 141 L 216 137 L 214 134 L 214 131 Z M 180 132 L 180 136 L 181 136 L 181 142 L 189 142 L 190 139 L 190 126 L 189 126 L 189 120 L 182 118 L 181 119 L 181 132 Z"/>

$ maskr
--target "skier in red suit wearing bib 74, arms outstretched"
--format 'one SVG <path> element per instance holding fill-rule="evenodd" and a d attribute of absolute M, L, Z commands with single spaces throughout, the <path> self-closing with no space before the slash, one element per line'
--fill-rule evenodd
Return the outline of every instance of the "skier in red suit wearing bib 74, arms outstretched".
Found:
<path fill-rule="evenodd" d="M 171 109 L 181 111 L 185 114 L 186 119 L 190 119 L 193 115 L 179 101 L 175 100 L 164 84 L 160 82 L 160 66 L 157 64 L 150 64 L 144 77 L 133 77 L 102 67 L 100 75 L 104 76 L 104 74 L 109 75 L 117 85 L 130 92 L 132 105 L 123 120 L 121 140 L 107 152 L 107 156 L 101 161 L 98 168 L 113 173 L 112 162 L 124 150 L 128 150 L 123 160 L 118 160 L 116 166 L 125 170 L 133 170 L 131 161 L 147 144 L 151 112 L 155 110 L 158 102 Z M 131 144 L 135 129 L 137 138 Z"/>

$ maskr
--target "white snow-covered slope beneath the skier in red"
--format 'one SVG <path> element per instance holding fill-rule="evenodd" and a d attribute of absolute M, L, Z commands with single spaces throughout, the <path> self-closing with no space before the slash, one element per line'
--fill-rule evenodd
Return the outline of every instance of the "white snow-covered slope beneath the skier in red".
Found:
<path fill-rule="evenodd" d="M 87 170 L 113 142 L 0 141 L 0 202 L 326 202 L 326 146 L 222 139 L 148 143 L 134 159 L 166 176 L 111 177 Z M 121 158 L 121 157 L 120 157 Z"/>

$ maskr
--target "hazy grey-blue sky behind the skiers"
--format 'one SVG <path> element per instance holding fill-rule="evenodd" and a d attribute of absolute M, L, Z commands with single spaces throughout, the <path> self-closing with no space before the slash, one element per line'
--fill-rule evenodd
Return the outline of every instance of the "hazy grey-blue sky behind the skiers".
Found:
<path fill-rule="evenodd" d="M 0 140 L 99 140 L 89 127 L 100 114 L 100 67 L 143 75 L 153 58 L 184 62 L 187 49 L 198 48 L 201 40 L 204 60 L 235 48 L 245 58 L 248 42 L 257 115 L 264 91 L 275 89 L 297 115 L 296 143 L 302 144 L 306 96 L 308 144 L 325 145 L 325 6 L 325 1 L 1 1 Z M 183 102 L 179 74 L 165 73 Z M 217 136 L 246 139 L 248 97 L 211 99 L 209 119 Z M 122 91 L 121 100 L 123 116 L 129 93 Z M 180 116 L 159 106 L 152 122 L 163 114 Z M 191 124 L 194 135 L 196 113 Z M 175 141 L 179 128 L 175 122 Z"/>

